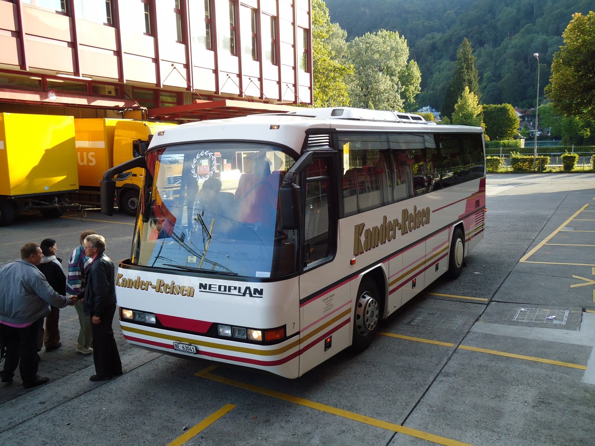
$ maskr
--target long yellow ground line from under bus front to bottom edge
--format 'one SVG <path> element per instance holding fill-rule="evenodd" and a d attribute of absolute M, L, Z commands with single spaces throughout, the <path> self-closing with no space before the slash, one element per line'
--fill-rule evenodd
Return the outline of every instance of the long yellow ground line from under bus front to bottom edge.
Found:
<path fill-rule="evenodd" d="M 315 403 L 314 401 L 309 401 L 305 398 L 294 397 L 293 395 L 277 392 L 275 390 L 265 389 L 263 387 L 247 384 L 245 382 L 236 381 L 235 379 L 224 378 L 223 376 L 213 375 L 212 373 L 199 373 L 201 373 L 201 375 L 199 376 L 202 376 L 202 378 L 211 379 L 212 381 L 221 382 L 222 384 L 239 387 L 240 389 L 256 392 L 262 395 L 267 395 L 269 397 L 278 398 L 279 400 L 288 401 L 289 403 L 299 404 L 300 406 L 309 407 L 311 409 L 319 410 L 320 412 L 330 413 L 360 423 L 365 423 L 370 426 L 386 429 L 387 431 L 399 432 L 399 434 L 414 436 L 415 438 L 421 438 L 427 441 L 432 441 L 437 444 L 443 444 L 445 446 L 468 445 L 468 443 L 462 443 L 460 441 L 456 441 L 450 438 L 444 438 L 443 436 L 430 434 L 429 432 L 418 431 L 417 429 L 406 428 L 405 426 L 397 425 L 395 423 L 389 423 L 358 413 L 349 412 L 348 410 L 327 406 L 326 404 Z M 196 373 L 196 375 L 198 375 L 198 373 Z"/>

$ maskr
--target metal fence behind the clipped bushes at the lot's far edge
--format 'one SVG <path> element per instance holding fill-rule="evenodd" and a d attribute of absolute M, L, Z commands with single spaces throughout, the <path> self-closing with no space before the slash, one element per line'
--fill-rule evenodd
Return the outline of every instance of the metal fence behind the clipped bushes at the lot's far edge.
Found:
<path fill-rule="evenodd" d="M 533 156 L 535 146 L 531 147 L 492 147 L 486 148 L 486 156 L 499 156 L 502 158 L 502 167 L 511 167 L 511 152 L 521 155 Z M 591 157 L 595 155 L 595 146 L 537 146 L 537 156 L 549 156 L 551 167 L 562 167 L 562 155 L 564 153 L 578 153 L 578 160 L 575 169 L 589 170 Z"/>

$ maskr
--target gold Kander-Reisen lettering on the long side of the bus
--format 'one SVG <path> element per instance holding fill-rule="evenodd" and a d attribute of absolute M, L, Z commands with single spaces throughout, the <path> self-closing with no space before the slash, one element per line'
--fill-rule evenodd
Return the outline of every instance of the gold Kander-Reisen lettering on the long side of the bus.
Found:
<path fill-rule="evenodd" d="M 430 214 L 429 206 L 422 209 L 414 206 L 413 212 L 409 212 L 409 209 L 403 209 L 400 221 L 398 218 L 388 219 L 384 215 L 380 226 L 366 228 L 365 223 L 355 225 L 353 255 L 359 256 L 381 244 L 394 240 L 399 233 L 405 235 L 427 225 L 430 223 Z"/>

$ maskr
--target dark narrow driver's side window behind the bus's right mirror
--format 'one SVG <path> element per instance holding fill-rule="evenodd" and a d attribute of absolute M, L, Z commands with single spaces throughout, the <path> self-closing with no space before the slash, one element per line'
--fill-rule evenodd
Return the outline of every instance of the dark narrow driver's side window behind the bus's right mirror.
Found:
<path fill-rule="evenodd" d="M 324 175 L 324 176 L 323 176 Z M 330 253 L 328 238 L 328 160 L 316 159 L 306 178 L 305 241 L 306 263 L 324 259 Z"/>

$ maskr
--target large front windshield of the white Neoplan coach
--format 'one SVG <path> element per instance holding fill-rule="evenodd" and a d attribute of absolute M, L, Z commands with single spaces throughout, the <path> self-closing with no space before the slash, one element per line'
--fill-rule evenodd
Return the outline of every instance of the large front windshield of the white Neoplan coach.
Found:
<path fill-rule="evenodd" d="M 295 159 L 258 143 L 196 143 L 147 153 L 131 261 L 140 266 L 278 277 L 296 266 L 282 230 L 281 181 Z"/>

